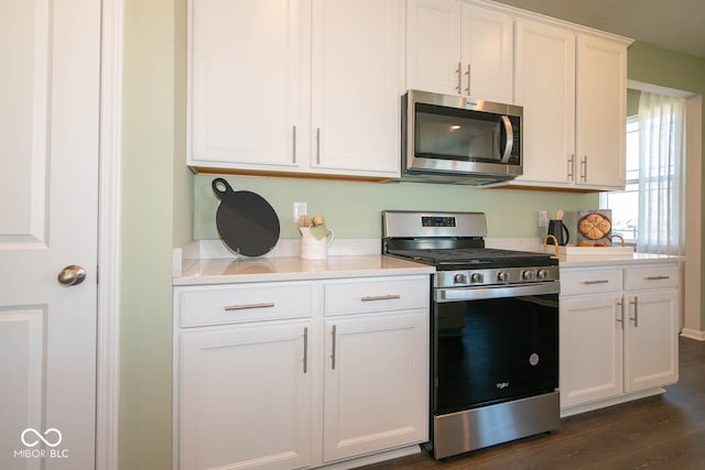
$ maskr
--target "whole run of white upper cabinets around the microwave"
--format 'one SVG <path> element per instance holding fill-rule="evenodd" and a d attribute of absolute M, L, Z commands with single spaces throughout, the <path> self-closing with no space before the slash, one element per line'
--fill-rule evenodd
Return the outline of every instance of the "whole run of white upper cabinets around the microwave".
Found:
<path fill-rule="evenodd" d="M 400 176 L 406 89 L 524 107 L 524 175 L 625 184 L 627 46 L 481 0 L 189 0 L 195 171 Z"/>

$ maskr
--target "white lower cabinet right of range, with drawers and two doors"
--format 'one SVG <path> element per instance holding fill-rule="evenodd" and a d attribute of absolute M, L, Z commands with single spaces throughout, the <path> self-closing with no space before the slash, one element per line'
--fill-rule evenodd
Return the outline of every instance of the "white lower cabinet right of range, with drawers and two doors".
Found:
<path fill-rule="evenodd" d="M 561 269 L 561 409 L 677 381 L 679 265 Z"/>

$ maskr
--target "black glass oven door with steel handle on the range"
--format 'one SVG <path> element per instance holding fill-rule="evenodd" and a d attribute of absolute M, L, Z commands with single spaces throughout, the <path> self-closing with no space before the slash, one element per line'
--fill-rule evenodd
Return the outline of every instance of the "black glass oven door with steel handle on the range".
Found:
<path fill-rule="evenodd" d="M 432 311 L 435 415 L 557 390 L 557 282 L 442 291 Z"/>

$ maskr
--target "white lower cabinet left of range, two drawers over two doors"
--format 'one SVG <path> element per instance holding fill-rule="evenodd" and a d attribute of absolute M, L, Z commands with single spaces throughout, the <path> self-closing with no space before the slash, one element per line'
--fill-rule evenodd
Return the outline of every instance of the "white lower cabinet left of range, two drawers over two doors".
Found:
<path fill-rule="evenodd" d="M 427 275 L 178 286 L 174 308 L 175 469 L 427 440 Z"/>

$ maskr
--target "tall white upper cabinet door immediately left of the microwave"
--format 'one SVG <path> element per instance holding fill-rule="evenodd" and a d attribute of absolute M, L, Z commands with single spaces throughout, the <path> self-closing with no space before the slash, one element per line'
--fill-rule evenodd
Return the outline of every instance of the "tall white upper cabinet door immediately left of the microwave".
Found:
<path fill-rule="evenodd" d="M 312 168 L 400 172 L 401 0 L 314 0 Z"/>

